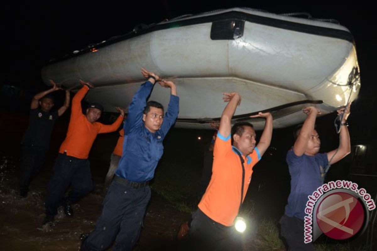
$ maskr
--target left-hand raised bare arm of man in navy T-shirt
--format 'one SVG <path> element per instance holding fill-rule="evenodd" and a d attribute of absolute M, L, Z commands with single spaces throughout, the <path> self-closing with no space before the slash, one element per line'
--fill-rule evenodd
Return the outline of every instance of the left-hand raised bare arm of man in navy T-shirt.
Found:
<path fill-rule="evenodd" d="M 297 156 L 301 156 L 305 153 L 311 134 L 314 130 L 314 125 L 316 123 L 317 114 L 320 114 L 320 111 L 314 106 L 309 106 L 302 110 L 308 117 L 305 119 L 305 122 L 302 125 L 299 135 L 293 145 L 293 152 Z"/>

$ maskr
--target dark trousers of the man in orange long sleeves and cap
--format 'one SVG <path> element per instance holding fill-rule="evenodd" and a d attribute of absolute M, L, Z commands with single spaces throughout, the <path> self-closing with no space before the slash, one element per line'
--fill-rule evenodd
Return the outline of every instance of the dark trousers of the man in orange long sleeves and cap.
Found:
<path fill-rule="evenodd" d="M 93 189 L 89 160 L 59 154 L 55 161 L 54 173 L 47 185 L 46 216 L 54 217 L 61 205 L 64 193 L 69 185 L 68 200 L 79 201 Z"/>

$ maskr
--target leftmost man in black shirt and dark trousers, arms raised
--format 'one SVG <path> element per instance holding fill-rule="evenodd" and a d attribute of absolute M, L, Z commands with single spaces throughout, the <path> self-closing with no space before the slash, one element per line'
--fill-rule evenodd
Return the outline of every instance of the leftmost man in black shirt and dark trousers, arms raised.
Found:
<path fill-rule="evenodd" d="M 28 195 L 29 185 L 39 173 L 50 144 L 50 137 L 55 121 L 69 106 L 69 91 L 66 91 L 64 105 L 57 111 L 52 111 L 54 99 L 49 94 L 61 90 L 50 80 L 52 88 L 36 94 L 30 104 L 29 126 L 22 138 L 20 196 Z"/>

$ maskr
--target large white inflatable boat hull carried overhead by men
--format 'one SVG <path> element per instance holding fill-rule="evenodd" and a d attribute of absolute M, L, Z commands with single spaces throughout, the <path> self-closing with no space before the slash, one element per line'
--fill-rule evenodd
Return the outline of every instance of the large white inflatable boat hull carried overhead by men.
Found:
<path fill-rule="evenodd" d="M 337 24 L 246 13 L 348 32 Z M 98 44 L 97 52 L 78 53 L 47 65 L 42 77 L 46 84 L 53 79 L 67 87 L 79 87 L 79 79 L 89 81 L 96 88 L 87 100 L 115 112 L 114 106 L 127 108 L 144 82 L 140 73 L 144 67 L 174 79 L 180 97 L 176 126 L 182 128 L 209 128 L 208 121 L 219 118 L 224 109 L 223 92 L 241 94 L 236 118 L 245 120 L 248 114 L 271 110 L 275 128 L 302 122 L 306 116 L 300 110 L 310 103 L 305 100 L 318 103 L 322 114 L 327 114 L 357 97 L 360 82 L 349 82 L 352 70 L 359 71 L 353 41 L 249 21 L 241 37 L 213 40 L 211 27 L 212 22 L 206 22 L 156 29 L 106 46 Z M 160 86 L 150 97 L 164 106 L 168 99 L 169 92 Z M 256 129 L 264 126 L 261 120 L 248 120 Z"/>

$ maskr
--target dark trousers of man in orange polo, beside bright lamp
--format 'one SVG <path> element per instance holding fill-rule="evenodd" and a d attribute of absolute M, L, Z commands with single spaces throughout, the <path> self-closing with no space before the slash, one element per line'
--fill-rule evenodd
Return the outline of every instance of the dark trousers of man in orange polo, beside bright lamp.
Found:
<path fill-rule="evenodd" d="M 241 250 L 242 234 L 213 221 L 200 209 L 193 214 L 187 250 Z"/>

